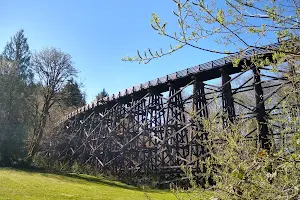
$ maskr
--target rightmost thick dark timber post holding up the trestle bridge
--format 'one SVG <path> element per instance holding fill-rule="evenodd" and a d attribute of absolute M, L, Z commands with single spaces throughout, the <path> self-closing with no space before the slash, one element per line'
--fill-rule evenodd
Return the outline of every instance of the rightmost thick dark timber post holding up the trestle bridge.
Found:
<path fill-rule="evenodd" d="M 258 135 L 259 142 L 263 149 L 270 149 L 270 141 L 269 141 L 269 130 L 267 125 L 267 114 L 264 103 L 264 93 L 261 85 L 260 73 L 259 69 L 255 66 L 253 67 L 253 75 L 254 75 L 254 91 L 255 91 L 255 102 L 256 102 L 256 119 L 258 123 Z"/>

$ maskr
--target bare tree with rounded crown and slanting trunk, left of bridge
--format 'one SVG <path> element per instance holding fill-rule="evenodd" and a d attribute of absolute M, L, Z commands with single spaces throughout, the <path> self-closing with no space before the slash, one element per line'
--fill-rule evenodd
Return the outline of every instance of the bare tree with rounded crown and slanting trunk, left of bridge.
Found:
<path fill-rule="evenodd" d="M 61 100 L 60 92 L 66 82 L 77 73 L 71 56 L 55 48 L 46 48 L 33 55 L 32 69 L 39 83 L 41 103 L 29 146 L 29 160 L 39 148 L 52 106 Z"/>

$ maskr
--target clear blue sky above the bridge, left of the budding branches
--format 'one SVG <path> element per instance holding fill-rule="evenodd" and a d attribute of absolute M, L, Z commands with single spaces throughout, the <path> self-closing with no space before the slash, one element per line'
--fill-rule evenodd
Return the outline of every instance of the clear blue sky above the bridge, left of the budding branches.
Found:
<path fill-rule="evenodd" d="M 0 50 L 24 29 L 32 51 L 56 47 L 69 53 L 90 102 L 102 88 L 117 93 L 219 57 L 186 48 L 147 65 L 121 61 L 124 56 L 136 55 L 137 49 L 167 49 L 172 41 L 151 28 L 150 17 L 156 12 L 172 21 L 173 9 L 172 0 L 0 0 Z M 212 43 L 203 41 L 201 45 Z"/>

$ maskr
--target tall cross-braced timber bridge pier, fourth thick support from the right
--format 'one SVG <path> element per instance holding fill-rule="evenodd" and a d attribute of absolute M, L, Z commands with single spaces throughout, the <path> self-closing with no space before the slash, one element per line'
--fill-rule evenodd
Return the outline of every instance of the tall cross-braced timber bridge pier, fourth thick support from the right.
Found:
<path fill-rule="evenodd" d="M 180 166 L 185 165 L 189 155 L 188 132 L 183 127 L 186 123 L 184 101 L 182 91 L 173 84 L 169 85 L 169 99 L 166 105 L 163 146 L 162 172 L 165 176 L 179 178 Z"/>

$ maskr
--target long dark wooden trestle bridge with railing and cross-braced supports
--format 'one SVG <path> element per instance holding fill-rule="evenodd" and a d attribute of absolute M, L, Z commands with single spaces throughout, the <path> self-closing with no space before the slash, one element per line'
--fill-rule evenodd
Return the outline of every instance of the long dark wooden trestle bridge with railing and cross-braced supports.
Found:
<path fill-rule="evenodd" d="M 76 161 L 121 178 L 156 177 L 168 183 L 185 178 L 182 165 L 198 171 L 198 160 L 207 154 L 201 141 L 209 135 L 201 130 L 203 119 L 218 117 L 221 126 L 256 120 L 258 125 L 242 134 L 268 148 L 268 135 L 281 127 L 268 122 L 281 114 L 283 99 L 272 97 L 289 84 L 283 74 L 290 72 L 257 69 L 247 59 L 253 54 L 271 58 L 268 52 L 249 50 L 238 67 L 230 57 L 217 59 L 86 105 L 60 122 L 43 151 L 53 161 Z"/>

